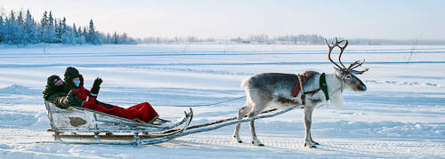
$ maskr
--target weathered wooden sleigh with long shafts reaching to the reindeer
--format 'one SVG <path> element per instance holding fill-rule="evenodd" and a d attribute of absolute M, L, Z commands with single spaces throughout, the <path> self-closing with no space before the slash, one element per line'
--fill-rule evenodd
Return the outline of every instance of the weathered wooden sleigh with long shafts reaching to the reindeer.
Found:
<path fill-rule="evenodd" d="M 289 107 L 271 115 L 258 115 L 253 118 L 237 120 L 237 117 L 231 117 L 210 123 L 201 123 L 189 125 L 193 111 L 190 108 L 189 113 L 173 122 L 162 123 L 160 125 L 135 122 L 130 119 L 108 115 L 98 111 L 86 109 L 83 107 L 69 107 L 61 109 L 52 102 L 44 101 L 51 128 L 48 131 L 54 132 L 54 141 L 41 141 L 37 143 L 64 143 L 64 144 L 109 144 L 109 145 L 152 145 L 163 143 L 185 135 L 198 133 L 202 131 L 212 131 L 224 126 L 236 123 L 251 122 L 260 118 L 267 118 L 286 113 L 299 106 Z M 269 113 L 276 109 L 263 111 Z M 71 134 L 66 134 L 66 133 Z M 74 134 L 72 134 L 74 132 Z M 93 132 L 93 135 L 78 134 L 79 132 Z M 105 132 L 108 135 L 100 135 Z M 115 132 L 130 132 L 133 135 L 115 135 Z M 140 135 L 142 133 L 142 135 Z M 123 139 L 133 137 L 132 141 L 102 141 L 105 139 Z M 90 141 L 65 141 L 62 138 L 90 138 Z M 128 140 L 128 139 L 127 139 Z"/>

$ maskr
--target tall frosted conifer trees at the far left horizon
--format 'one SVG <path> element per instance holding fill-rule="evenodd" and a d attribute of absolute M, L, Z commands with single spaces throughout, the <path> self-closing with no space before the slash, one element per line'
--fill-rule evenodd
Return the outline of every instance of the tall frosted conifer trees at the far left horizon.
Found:
<path fill-rule="evenodd" d="M 0 43 L 15 44 L 136 44 L 136 41 L 125 33 L 107 35 L 95 31 L 93 20 L 88 27 L 69 26 L 65 17 L 61 20 L 53 18 L 50 11 L 44 12 L 38 22 L 29 10 L 24 12 L 10 12 L 10 16 L 0 15 Z"/>

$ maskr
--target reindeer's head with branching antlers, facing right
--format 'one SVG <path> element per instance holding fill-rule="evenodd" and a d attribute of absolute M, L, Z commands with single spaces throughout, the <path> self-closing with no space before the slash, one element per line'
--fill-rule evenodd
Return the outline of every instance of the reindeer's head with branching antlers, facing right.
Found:
<path fill-rule="evenodd" d="M 325 41 L 326 41 L 326 44 L 328 44 L 328 40 L 326 40 L 326 38 L 325 38 Z M 344 42 L 344 40 L 339 42 L 336 38 L 335 44 L 332 43 L 333 44 L 332 46 L 330 46 L 328 44 L 328 47 L 329 47 L 328 60 L 330 60 L 337 67 L 337 68 L 335 68 L 336 69 L 336 77 L 342 83 L 341 91 L 343 91 L 344 88 L 346 88 L 347 90 L 350 90 L 350 91 L 366 91 L 366 89 L 367 89 L 366 85 L 364 83 L 362 83 L 361 80 L 355 75 L 361 75 L 361 74 L 365 73 L 366 71 L 368 71 L 368 68 L 365 68 L 362 71 L 354 70 L 354 68 L 360 67 L 365 62 L 365 60 L 363 60 L 363 62 L 361 62 L 361 63 L 359 63 L 360 60 L 357 60 L 354 63 L 352 63 L 348 68 L 344 67 L 342 60 L 340 60 L 340 58 L 342 57 L 344 49 L 348 45 L 348 41 L 346 40 L 346 43 L 344 44 L 343 47 L 338 45 L 343 42 Z M 336 64 L 336 62 L 334 62 L 331 59 L 331 52 L 335 47 L 340 48 L 340 54 L 338 55 L 338 62 L 340 63 L 340 65 L 342 67 L 340 67 L 338 64 Z"/>

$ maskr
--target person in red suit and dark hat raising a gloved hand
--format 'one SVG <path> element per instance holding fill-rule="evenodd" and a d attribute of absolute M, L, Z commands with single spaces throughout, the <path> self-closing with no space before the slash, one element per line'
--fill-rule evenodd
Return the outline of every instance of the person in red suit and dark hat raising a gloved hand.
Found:
<path fill-rule="evenodd" d="M 94 80 L 93 87 L 91 88 L 91 91 L 89 91 L 84 87 L 84 77 L 79 74 L 79 71 L 76 68 L 67 68 L 64 76 L 65 83 L 69 84 L 71 90 L 77 95 L 77 98 L 84 101 L 82 107 L 143 123 L 153 123 L 159 117 L 156 110 L 151 107 L 148 102 L 143 102 L 128 108 L 122 108 L 98 101 L 97 96 L 101 89 L 101 83 L 103 82 L 99 77 Z"/>

